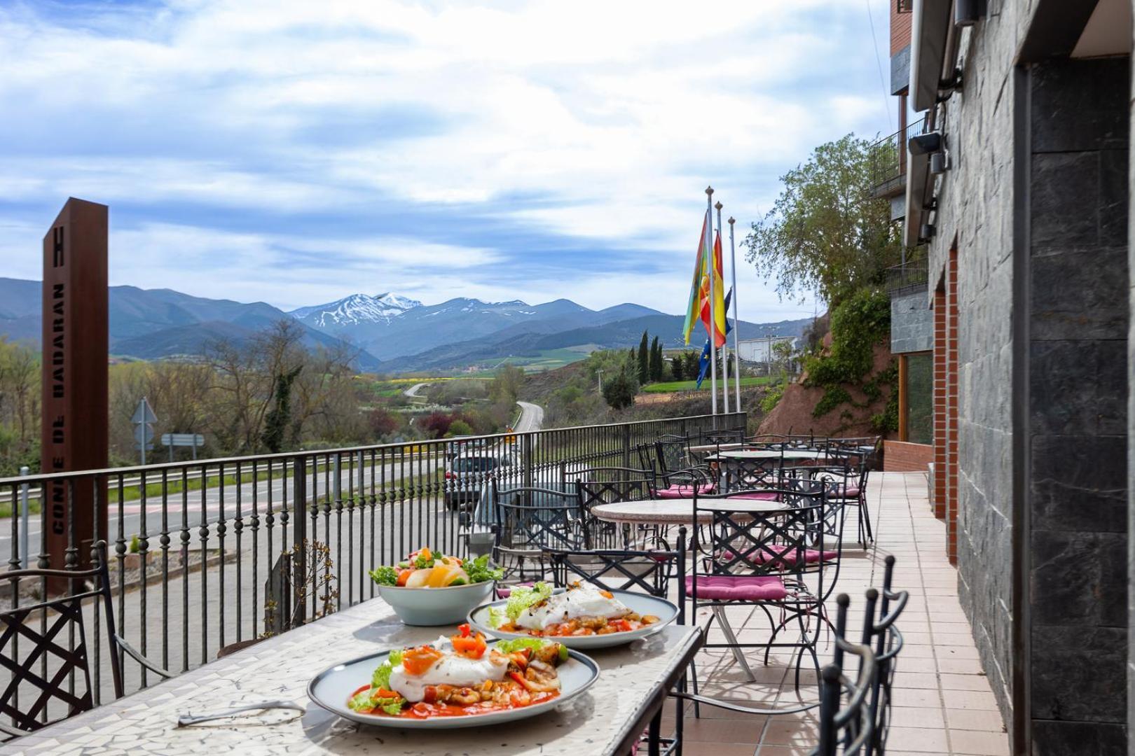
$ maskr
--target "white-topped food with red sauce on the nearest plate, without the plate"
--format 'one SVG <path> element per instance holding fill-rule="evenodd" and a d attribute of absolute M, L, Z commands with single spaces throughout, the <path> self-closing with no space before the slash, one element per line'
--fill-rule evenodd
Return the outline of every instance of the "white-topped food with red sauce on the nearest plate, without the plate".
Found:
<path fill-rule="evenodd" d="M 560 696 L 557 668 L 565 646 L 540 639 L 489 647 L 468 625 L 426 646 L 392 651 L 347 707 L 359 714 L 424 720 L 476 716 L 549 702 Z"/>

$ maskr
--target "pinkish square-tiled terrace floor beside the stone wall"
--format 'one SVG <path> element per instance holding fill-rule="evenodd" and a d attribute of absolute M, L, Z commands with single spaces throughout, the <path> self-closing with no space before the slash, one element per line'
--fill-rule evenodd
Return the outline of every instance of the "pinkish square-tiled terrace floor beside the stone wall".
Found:
<path fill-rule="evenodd" d="M 936 520 L 926 495 L 926 476 L 882 473 L 868 486 L 876 544 L 864 552 L 858 544 L 843 554 L 838 592 L 851 597 L 850 627 L 861 627 L 863 594 L 882 584 L 883 559 L 898 560 L 894 584 L 910 591 L 910 603 L 899 627 L 906 638 L 897 668 L 889 756 L 966 754 L 1008 756 L 1009 740 L 989 681 L 982 672 L 969 623 L 958 603 L 957 574 L 945 558 L 945 527 Z M 855 534 L 848 523 L 849 537 Z M 742 639 L 764 639 L 767 620 L 757 612 L 730 612 Z M 720 634 L 712 632 L 714 640 Z M 822 637 L 821 664 L 832 647 Z M 698 657 L 701 693 L 750 706 L 787 707 L 796 700 L 816 700 L 815 672 L 806 662 L 800 693 L 793 686 L 788 654 L 776 654 L 766 666 L 762 653 L 750 649 L 757 682 L 745 682 L 728 649 L 705 651 Z M 672 722 L 667 711 L 667 727 Z M 737 714 L 703 707 L 686 717 L 686 756 L 790 756 L 807 754 L 816 739 L 815 714 L 775 717 Z"/>

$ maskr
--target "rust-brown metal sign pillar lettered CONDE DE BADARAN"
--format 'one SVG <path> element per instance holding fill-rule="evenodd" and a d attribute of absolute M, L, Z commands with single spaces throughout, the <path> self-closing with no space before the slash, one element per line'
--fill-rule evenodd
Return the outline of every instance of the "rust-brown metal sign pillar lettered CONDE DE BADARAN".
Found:
<path fill-rule="evenodd" d="M 107 210 L 72 197 L 43 237 L 43 473 L 107 467 Z M 106 482 L 50 483 L 43 512 L 50 566 L 86 566 L 107 537 Z"/>

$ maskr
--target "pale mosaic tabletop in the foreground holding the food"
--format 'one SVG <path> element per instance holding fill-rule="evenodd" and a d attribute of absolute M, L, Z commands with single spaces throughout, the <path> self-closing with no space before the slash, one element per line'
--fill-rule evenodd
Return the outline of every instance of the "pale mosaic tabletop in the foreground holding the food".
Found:
<path fill-rule="evenodd" d="M 9 741 L 0 754 L 613 754 L 641 731 L 700 643 L 696 628 L 671 626 L 644 640 L 596 649 L 589 655 L 602 671 L 590 690 L 552 713 L 496 728 L 365 727 L 308 699 L 308 682 L 328 666 L 452 631 L 404 626 L 373 598 Z M 180 714 L 272 699 L 294 700 L 306 713 L 277 710 L 239 723 L 176 727 Z"/>

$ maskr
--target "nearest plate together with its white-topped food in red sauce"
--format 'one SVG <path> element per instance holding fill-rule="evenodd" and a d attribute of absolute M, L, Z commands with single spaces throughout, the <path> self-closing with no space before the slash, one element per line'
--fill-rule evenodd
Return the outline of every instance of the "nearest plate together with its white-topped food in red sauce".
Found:
<path fill-rule="evenodd" d="M 336 664 L 312 679 L 308 696 L 363 724 L 466 728 L 538 716 L 598 677 L 594 661 L 556 640 L 486 640 L 462 625 L 428 645 Z"/>

